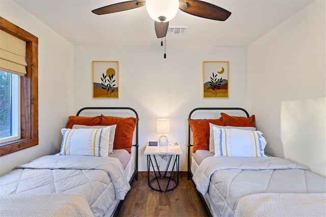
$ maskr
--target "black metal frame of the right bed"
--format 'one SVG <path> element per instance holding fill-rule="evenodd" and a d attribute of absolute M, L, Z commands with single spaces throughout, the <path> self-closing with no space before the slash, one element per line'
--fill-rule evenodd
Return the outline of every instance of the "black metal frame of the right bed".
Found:
<path fill-rule="evenodd" d="M 189 124 L 189 119 L 192 117 L 192 114 L 195 112 L 195 111 L 198 111 L 198 110 L 240 110 L 240 111 L 243 111 L 247 117 L 249 117 L 249 113 L 243 109 L 243 108 L 233 108 L 233 107 L 200 107 L 200 108 L 195 108 L 193 109 L 190 113 L 189 113 L 189 116 L 188 116 L 188 144 L 187 144 L 187 147 L 188 147 L 188 160 L 187 160 L 187 179 L 191 179 L 191 177 L 193 177 L 193 173 L 191 171 L 191 164 L 190 164 L 190 158 L 191 158 L 191 148 L 194 146 L 193 144 L 191 144 L 191 128 L 190 128 L 190 124 Z M 208 216 L 212 216 L 211 212 L 210 212 L 210 209 L 208 208 L 208 205 L 203 197 L 202 194 L 200 194 L 199 191 L 198 192 L 198 195 L 200 196 L 200 199 L 202 200 L 203 202 L 203 205 L 204 205 L 204 208 L 208 214 Z"/>

